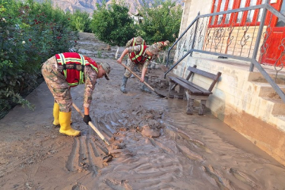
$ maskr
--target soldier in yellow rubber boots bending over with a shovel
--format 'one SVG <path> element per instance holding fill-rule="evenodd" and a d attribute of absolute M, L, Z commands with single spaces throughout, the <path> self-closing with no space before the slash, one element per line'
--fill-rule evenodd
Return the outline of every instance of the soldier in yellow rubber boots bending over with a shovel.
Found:
<path fill-rule="evenodd" d="M 84 119 L 91 121 L 89 107 L 96 79 L 103 76 L 108 79 L 110 65 L 97 64 L 94 60 L 79 53 L 59 53 L 49 58 L 42 65 L 42 75 L 54 97 L 53 125 L 60 126 L 59 132 L 68 136 L 80 136 L 80 131 L 70 127 L 72 97 L 70 87 L 85 84 L 84 89 Z"/>

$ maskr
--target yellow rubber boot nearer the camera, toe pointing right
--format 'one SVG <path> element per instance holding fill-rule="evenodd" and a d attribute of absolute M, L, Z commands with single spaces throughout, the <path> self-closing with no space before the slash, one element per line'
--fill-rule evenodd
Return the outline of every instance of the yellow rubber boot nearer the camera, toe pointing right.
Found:
<path fill-rule="evenodd" d="M 59 124 L 61 125 L 61 129 L 59 129 L 59 132 L 72 137 L 80 136 L 81 134 L 80 131 L 77 131 L 70 127 L 70 118 L 71 118 L 71 111 L 68 113 L 59 112 Z"/>

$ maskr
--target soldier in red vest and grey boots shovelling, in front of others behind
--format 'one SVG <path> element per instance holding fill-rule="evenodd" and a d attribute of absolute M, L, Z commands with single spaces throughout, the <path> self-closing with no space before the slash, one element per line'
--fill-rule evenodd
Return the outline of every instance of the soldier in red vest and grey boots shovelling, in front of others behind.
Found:
<path fill-rule="evenodd" d="M 129 58 L 127 58 L 127 67 L 130 70 L 134 69 L 134 65 L 137 65 L 139 68 L 139 71 L 141 72 L 141 82 L 148 82 L 148 76 L 147 70 L 148 65 L 151 62 L 152 56 L 155 56 L 158 54 L 158 49 L 155 45 L 151 46 L 144 46 L 144 45 L 138 45 L 138 46 L 130 46 L 129 48 L 126 48 L 123 52 L 120 58 L 118 58 L 118 63 L 122 64 L 122 58 L 126 54 L 129 54 Z M 127 84 L 127 79 L 130 77 L 131 72 L 129 70 L 125 70 L 125 74 L 122 77 L 122 85 L 120 87 L 120 90 L 123 93 L 127 93 L 125 87 Z M 146 91 L 148 93 L 151 93 L 151 91 L 146 87 L 146 85 L 142 85 L 141 91 Z"/>

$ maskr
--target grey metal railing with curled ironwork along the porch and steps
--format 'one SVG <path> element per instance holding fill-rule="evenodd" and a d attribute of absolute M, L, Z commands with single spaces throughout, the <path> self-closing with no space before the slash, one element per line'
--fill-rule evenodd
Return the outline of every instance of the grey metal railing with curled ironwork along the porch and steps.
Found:
<path fill-rule="evenodd" d="M 280 98 L 285 102 L 285 94 L 270 75 L 262 68 L 262 58 L 268 53 L 270 35 L 272 34 L 272 18 L 285 23 L 285 16 L 279 13 L 266 0 L 265 4 L 233 9 L 218 13 L 198 15 L 181 34 L 177 41 L 168 49 L 166 67 L 170 64 L 170 51 L 176 49 L 172 67 L 167 73 L 181 63 L 193 52 L 206 53 L 213 56 L 224 56 L 249 62 L 249 71 L 257 68 L 271 84 Z M 246 21 L 238 22 L 238 18 Z M 232 19 L 231 19 L 232 18 Z M 234 18 L 234 19 L 233 19 Z M 213 25 L 215 21 L 215 25 Z M 260 44 L 262 40 L 262 44 Z M 254 48 L 253 48 L 254 47 Z M 285 38 L 280 41 L 278 49 L 281 55 L 274 63 L 277 74 L 285 64 Z M 258 60 L 257 60 L 258 59 Z M 176 61 L 175 61 L 176 60 Z"/>

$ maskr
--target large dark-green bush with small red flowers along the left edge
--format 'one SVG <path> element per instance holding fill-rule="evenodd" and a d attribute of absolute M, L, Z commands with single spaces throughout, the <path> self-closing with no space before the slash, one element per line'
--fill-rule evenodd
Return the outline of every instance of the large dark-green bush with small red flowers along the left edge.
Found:
<path fill-rule="evenodd" d="M 42 63 L 68 51 L 78 38 L 69 25 L 68 15 L 48 1 L 0 1 L 1 113 L 15 103 L 30 107 L 22 96 L 41 81 Z"/>

